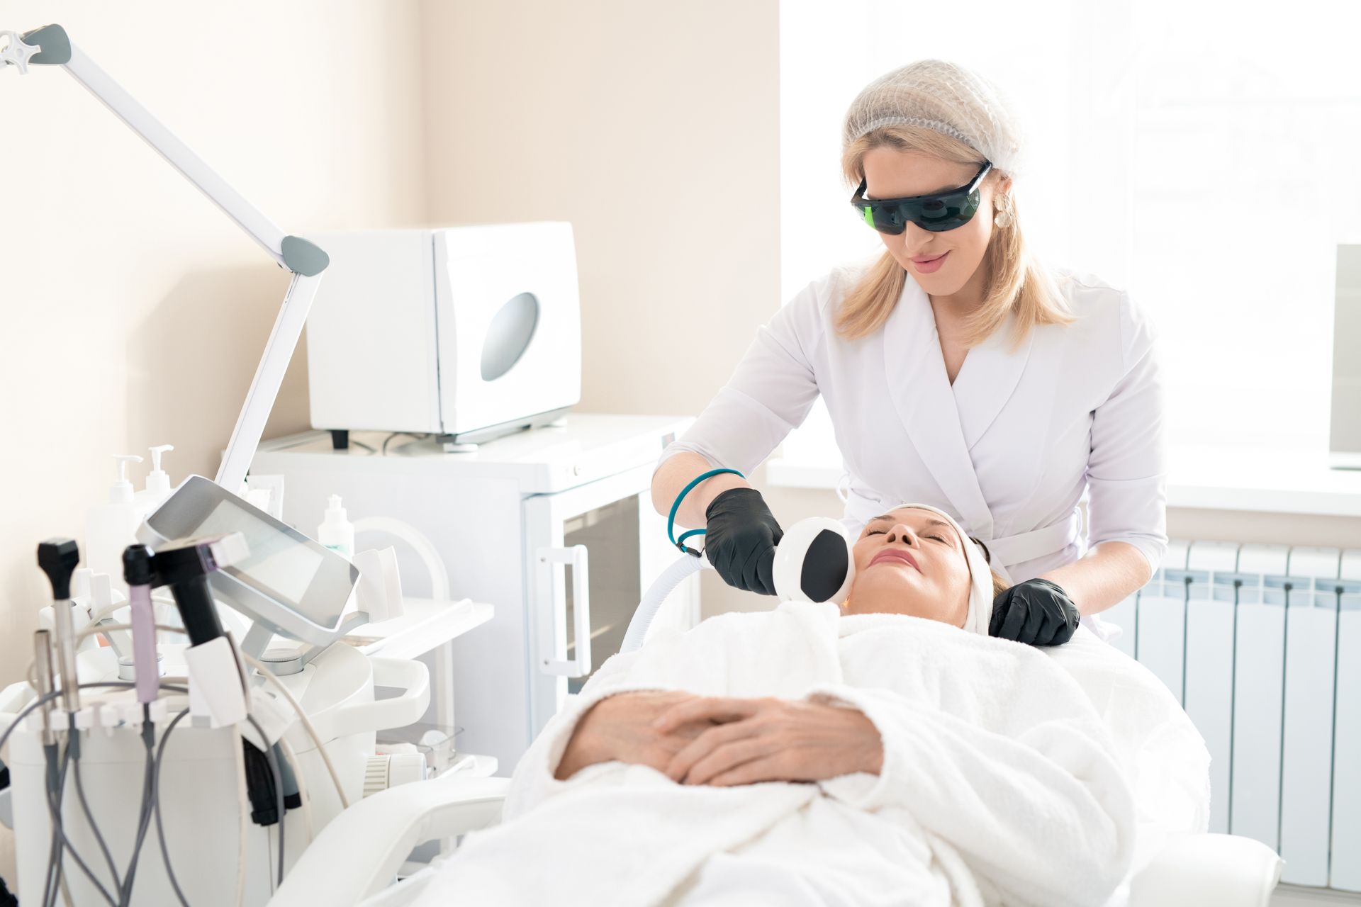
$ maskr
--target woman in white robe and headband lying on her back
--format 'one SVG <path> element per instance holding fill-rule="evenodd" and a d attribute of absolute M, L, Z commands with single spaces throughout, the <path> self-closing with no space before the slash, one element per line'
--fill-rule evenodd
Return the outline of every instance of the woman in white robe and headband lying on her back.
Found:
<path fill-rule="evenodd" d="M 949 515 L 896 509 L 855 562 L 840 609 L 610 658 L 416 903 L 1093 906 L 1136 828 L 1204 831 L 1209 757 L 1166 688 L 1085 628 L 988 636 L 994 575 Z"/>

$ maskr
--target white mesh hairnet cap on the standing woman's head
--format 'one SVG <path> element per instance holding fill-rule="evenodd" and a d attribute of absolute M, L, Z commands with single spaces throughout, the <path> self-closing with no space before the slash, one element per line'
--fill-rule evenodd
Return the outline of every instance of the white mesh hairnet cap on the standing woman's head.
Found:
<path fill-rule="evenodd" d="M 925 126 L 958 139 L 1007 175 L 1022 169 L 1021 125 L 1006 97 L 953 63 L 919 60 L 867 84 L 847 110 L 841 147 L 891 125 Z"/>

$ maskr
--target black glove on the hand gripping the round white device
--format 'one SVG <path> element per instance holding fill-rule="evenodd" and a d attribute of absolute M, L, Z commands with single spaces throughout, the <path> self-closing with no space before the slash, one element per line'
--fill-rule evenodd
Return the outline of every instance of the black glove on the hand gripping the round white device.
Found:
<path fill-rule="evenodd" d="M 755 488 L 728 488 L 704 513 L 704 553 L 734 589 L 774 594 L 774 547 L 784 537 Z"/>

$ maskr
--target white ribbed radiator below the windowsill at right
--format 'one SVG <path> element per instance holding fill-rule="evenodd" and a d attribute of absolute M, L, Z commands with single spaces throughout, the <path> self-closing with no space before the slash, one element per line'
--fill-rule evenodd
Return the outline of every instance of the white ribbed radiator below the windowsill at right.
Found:
<path fill-rule="evenodd" d="M 1210 831 L 1361 892 L 1361 551 L 1172 541 L 1101 617 L 1204 736 Z"/>

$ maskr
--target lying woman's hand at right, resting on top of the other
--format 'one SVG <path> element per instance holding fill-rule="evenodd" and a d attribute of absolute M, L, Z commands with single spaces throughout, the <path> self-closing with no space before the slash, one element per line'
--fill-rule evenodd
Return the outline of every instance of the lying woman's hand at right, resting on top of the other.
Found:
<path fill-rule="evenodd" d="M 653 723 L 670 733 L 715 722 L 666 767 L 686 785 L 754 785 L 764 781 L 822 781 L 883 766 L 879 730 L 863 713 L 787 699 L 694 698 L 671 706 Z"/>

